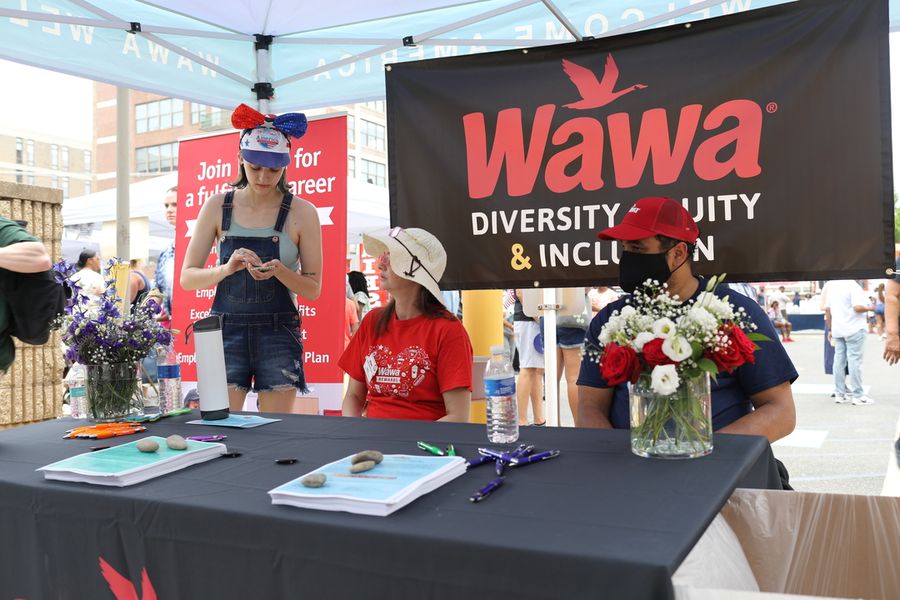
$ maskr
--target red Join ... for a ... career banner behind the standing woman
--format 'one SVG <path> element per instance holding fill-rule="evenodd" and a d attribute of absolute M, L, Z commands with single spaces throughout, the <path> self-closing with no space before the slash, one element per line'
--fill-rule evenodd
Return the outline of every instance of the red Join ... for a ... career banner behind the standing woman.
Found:
<path fill-rule="evenodd" d="M 184 255 L 200 208 L 212 196 L 231 189 L 238 178 L 238 132 L 179 142 L 178 217 L 175 225 L 175 285 L 173 327 L 185 331 L 209 315 L 215 288 L 184 290 L 178 283 Z M 343 351 L 345 269 L 347 247 L 347 120 L 345 116 L 310 120 L 306 135 L 293 140 L 286 178 L 294 194 L 312 202 L 322 225 L 322 293 L 314 301 L 298 297 L 303 319 L 303 361 L 306 380 L 315 384 L 340 383 L 337 360 Z M 218 263 L 216 246 L 210 249 L 207 268 Z M 193 344 L 178 336 L 175 346 L 182 379 L 196 381 Z"/>

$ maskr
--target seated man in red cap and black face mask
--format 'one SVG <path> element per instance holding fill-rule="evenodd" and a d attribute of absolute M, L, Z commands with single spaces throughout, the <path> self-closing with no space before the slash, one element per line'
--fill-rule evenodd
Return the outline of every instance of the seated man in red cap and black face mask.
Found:
<path fill-rule="evenodd" d="M 615 227 L 597 236 L 621 244 L 619 284 L 626 292 L 648 279 L 666 283 L 668 293 L 687 302 L 706 287 L 694 275 L 691 262 L 700 231 L 691 214 L 671 198 L 641 198 Z M 791 359 L 778 342 L 778 333 L 759 305 L 720 285 L 714 293 L 728 296 L 735 309 L 743 308 L 757 331 L 770 341 L 760 342 L 756 361 L 733 373 L 719 373 L 713 384 L 713 428 L 725 433 L 766 436 L 769 441 L 794 430 L 796 421 L 791 382 L 797 378 Z M 603 325 L 628 302 L 625 296 L 597 313 L 586 332 L 586 343 L 599 345 Z M 624 384 L 610 386 L 596 361 L 585 353 L 578 377 L 580 427 L 628 428 L 628 390 Z"/>

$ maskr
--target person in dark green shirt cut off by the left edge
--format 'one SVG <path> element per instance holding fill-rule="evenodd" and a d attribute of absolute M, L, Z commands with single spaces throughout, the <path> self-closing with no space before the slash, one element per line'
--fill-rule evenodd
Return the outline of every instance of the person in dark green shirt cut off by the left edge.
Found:
<path fill-rule="evenodd" d="M 15 221 L 0 217 L 0 269 L 40 273 L 51 266 L 50 255 L 40 240 Z M 12 337 L 6 333 L 8 325 L 9 308 L 6 299 L 0 297 L 0 375 L 9 369 L 16 356 Z"/>

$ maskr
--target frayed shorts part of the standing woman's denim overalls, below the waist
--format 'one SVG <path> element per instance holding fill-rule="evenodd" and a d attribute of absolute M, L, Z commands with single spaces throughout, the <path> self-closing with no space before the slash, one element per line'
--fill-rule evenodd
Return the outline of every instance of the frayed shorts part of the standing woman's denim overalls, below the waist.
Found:
<path fill-rule="evenodd" d="M 306 392 L 302 335 L 300 315 L 295 312 L 224 314 L 228 385 L 254 392 L 290 387 Z"/>

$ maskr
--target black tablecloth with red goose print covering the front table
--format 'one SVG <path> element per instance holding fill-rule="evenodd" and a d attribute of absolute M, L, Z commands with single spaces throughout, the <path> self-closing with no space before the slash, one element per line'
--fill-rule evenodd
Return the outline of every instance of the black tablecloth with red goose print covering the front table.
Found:
<path fill-rule="evenodd" d="M 0 432 L 0 598 L 113 598 L 101 559 L 137 597 L 146 570 L 160 599 L 671 598 L 672 572 L 734 488 L 779 487 L 759 437 L 716 435 L 710 456 L 666 461 L 632 455 L 627 431 L 529 427 L 521 441 L 561 456 L 513 470 L 478 504 L 489 465 L 388 517 L 273 506 L 268 490 L 360 450 L 417 454 L 425 440 L 474 456 L 486 438 L 483 425 L 272 416 L 284 420 L 151 424 L 227 434 L 242 456 L 127 488 L 35 469 L 135 436 L 63 440 L 71 419 Z"/>

